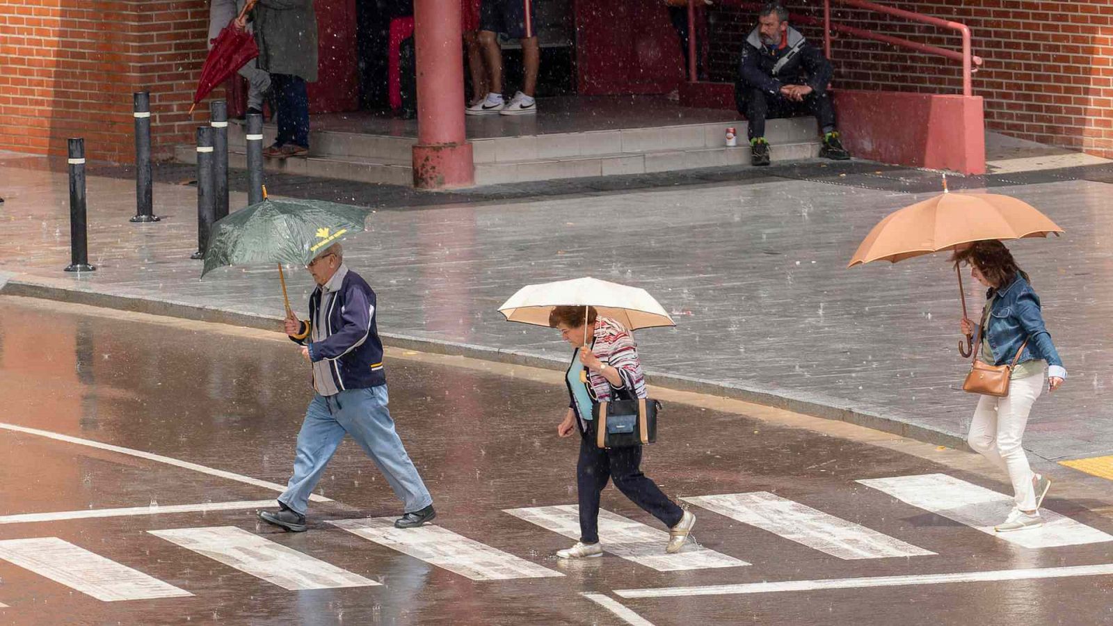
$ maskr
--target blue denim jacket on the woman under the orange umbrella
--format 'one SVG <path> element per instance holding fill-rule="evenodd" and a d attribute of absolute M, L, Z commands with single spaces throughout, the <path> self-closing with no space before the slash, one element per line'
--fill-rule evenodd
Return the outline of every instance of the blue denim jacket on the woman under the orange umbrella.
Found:
<path fill-rule="evenodd" d="M 986 299 L 994 295 L 994 291 L 986 293 Z M 989 350 L 993 352 L 994 365 L 1012 363 L 1016 356 L 1016 351 L 1025 339 L 1027 345 L 1021 353 L 1017 363 L 1043 359 L 1047 361 L 1047 375 L 1066 379 L 1066 370 L 1063 368 L 1063 360 L 1058 358 L 1055 344 L 1051 342 L 1051 333 L 1044 325 L 1043 314 L 1040 313 L 1040 296 L 1032 291 L 1032 286 L 1024 276 L 1020 274 L 1008 286 L 997 290 L 997 299 L 989 310 L 987 338 Z M 978 336 L 979 325 L 974 327 L 974 336 Z M 981 345 L 975 345 L 975 350 L 981 351 Z"/>

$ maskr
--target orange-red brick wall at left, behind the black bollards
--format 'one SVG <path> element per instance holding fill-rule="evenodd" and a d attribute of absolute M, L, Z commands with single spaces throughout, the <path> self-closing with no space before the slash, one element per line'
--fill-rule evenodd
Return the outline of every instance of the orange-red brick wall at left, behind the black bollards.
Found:
<path fill-rule="evenodd" d="M 0 2 L 0 149 L 134 159 L 132 91 L 151 95 L 156 158 L 191 141 L 186 111 L 205 60 L 206 0 Z"/>

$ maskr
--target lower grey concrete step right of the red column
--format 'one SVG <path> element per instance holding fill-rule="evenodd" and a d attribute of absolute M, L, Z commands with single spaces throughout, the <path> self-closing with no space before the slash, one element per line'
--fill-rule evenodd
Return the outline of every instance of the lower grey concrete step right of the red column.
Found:
<path fill-rule="evenodd" d="M 774 160 L 814 158 L 819 155 L 819 141 L 772 144 L 770 151 Z M 743 140 L 741 146 L 733 148 L 654 150 L 556 159 L 476 163 L 475 184 L 499 185 L 523 180 L 648 174 L 653 172 L 695 169 L 699 167 L 749 165 L 749 163 L 750 148 Z"/>

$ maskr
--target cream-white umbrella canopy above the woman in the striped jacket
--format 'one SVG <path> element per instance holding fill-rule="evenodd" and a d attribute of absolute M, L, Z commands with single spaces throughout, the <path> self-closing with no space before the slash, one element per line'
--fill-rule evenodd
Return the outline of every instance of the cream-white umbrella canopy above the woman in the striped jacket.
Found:
<path fill-rule="evenodd" d="M 613 317 L 631 331 L 676 325 L 646 290 L 590 276 L 526 285 L 510 296 L 499 312 L 511 322 L 548 327 L 549 312 L 563 305 L 594 306 L 600 315 Z"/>

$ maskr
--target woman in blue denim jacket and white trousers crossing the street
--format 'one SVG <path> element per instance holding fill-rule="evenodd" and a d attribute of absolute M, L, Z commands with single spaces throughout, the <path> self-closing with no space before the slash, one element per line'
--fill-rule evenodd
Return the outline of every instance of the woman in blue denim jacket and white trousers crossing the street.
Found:
<path fill-rule="evenodd" d="M 1028 275 L 1016 265 L 1004 244 L 998 241 L 976 242 L 955 252 L 954 261 L 968 264 L 971 276 L 989 287 L 986 293 L 988 302 L 982 314 L 985 327 L 968 319 L 962 321 L 964 333 L 981 339 L 979 344 L 974 346 L 978 351 L 978 360 L 1003 365 L 1012 363 L 1017 351 L 1021 353 L 1012 373 L 1008 395 L 983 395 L 978 400 L 966 442 L 1005 470 L 1013 482 L 1016 506 L 995 530 L 1006 532 L 1037 528 L 1043 526 L 1040 505 L 1047 495 L 1051 480 L 1032 472 L 1021 447 L 1021 437 L 1032 404 L 1043 393 L 1044 370 L 1047 370 L 1051 391 L 1063 384 L 1066 370 L 1044 326 L 1040 297 L 1032 291 Z"/>

